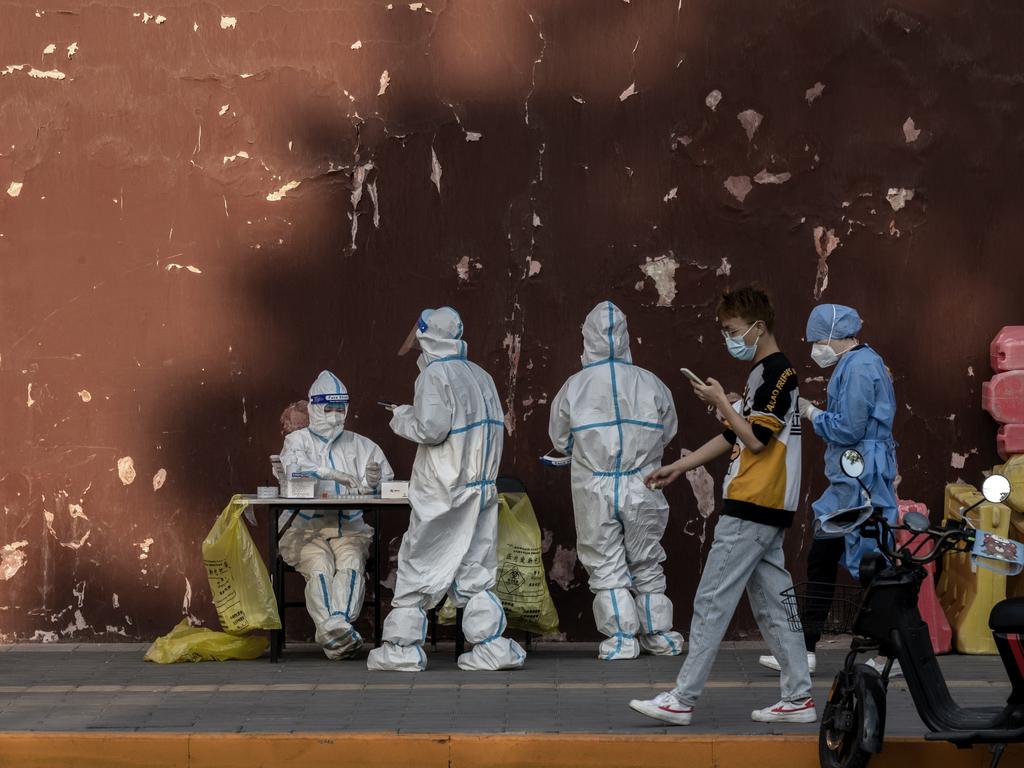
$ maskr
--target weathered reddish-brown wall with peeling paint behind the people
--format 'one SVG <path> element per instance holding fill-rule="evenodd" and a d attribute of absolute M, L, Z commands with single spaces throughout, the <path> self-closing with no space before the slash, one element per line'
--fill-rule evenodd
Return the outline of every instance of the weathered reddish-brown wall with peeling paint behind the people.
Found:
<path fill-rule="evenodd" d="M 987 345 L 1022 319 L 1022 32 L 953 0 L 0 2 L 0 639 L 215 622 L 199 543 L 321 369 L 408 473 L 374 401 L 411 396 L 394 351 L 443 303 L 506 398 L 570 638 L 590 597 L 537 457 L 600 299 L 677 393 L 674 451 L 716 429 L 680 365 L 741 386 L 721 289 L 772 289 L 811 396 L 807 311 L 859 307 L 902 494 L 937 508 L 994 459 Z M 685 628 L 712 483 L 670 500 Z"/>

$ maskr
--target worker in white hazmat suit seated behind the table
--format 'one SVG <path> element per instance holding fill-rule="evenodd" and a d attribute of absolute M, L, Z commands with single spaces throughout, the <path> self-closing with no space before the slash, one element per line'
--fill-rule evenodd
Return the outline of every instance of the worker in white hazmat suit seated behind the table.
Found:
<path fill-rule="evenodd" d="M 324 371 L 309 388 L 309 426 L 285 437 L 285 471 L 315 476 L 317 497 L 342 496 L 342 486 L 376 488 L 394 477 L 376 442 L 345 429 L 347 413 L 345 385 Z M 280 524 L 286 520 L 282 515 Z M 361 510 L 307 509 L 281 538 L 285 562 L 306 580 L 306 609 L 328 658 L 346 658 L 362 645 L 352 623 L 362 609 L 373 536 Z"/>

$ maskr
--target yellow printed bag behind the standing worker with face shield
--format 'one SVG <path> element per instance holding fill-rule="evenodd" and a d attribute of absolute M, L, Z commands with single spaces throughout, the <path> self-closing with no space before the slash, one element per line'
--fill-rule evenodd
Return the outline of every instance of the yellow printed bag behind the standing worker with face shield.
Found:
<path fill-rule="evenodd" d="M 498 497 L 498 584 L 495 594 L 509 627 L 535 635 L 558 632 L 558 611 L 548 592 L 541 559 L 541 527 L 526 494 Z M 441 624 L 455 622 L 451 601 L 438 611 Z"/>

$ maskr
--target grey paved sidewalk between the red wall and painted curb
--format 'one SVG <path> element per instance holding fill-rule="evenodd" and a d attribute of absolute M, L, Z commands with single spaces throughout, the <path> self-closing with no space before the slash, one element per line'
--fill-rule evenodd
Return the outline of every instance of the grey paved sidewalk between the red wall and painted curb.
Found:
<path fill-rule="evenodd" d="M 332 663 L 313 646 L 289 646 L 281 664 L 160 666 L 144 645 L 0 646 L 0 731 L 223 733 L 596 733 L 812 735 L 816 725 L 767 726 L 752 709 L 778 698 L 764 650 L 730 643 L 719 654 L 690 728 L 665 728 L 632 712 L 631 698 L 672 687 L 680 658 L 599 662 L 596 645 L 550 644 L 523 670 L 466 673 L 451 646 L 419 674 L 369 673 L 364 655 Z M 842 665 L 840 642 L 818 655 L 815 696 Z M 1009 692 L 995 656 L 947 656 L 942 667 L 965 705 L 1001 703 Z M 889 696 L 887 736 L 924 734 L 901 683 Z"/>

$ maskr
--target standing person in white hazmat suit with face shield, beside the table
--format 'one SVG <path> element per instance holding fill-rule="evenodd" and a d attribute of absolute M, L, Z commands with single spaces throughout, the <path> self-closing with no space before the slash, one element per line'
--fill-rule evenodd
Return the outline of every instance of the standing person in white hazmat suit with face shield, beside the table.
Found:
<path fill-rule="evenodd" d="M 451 307 L 425 309 L 399 354 L 418 342 L 420 375 L 412 406 L 394 408 L 391 429 L 419 444 L 409 483 L 409 530 L 383 644 L 371 670 L 426 669 L 427 613 L 447 593 L 472 650 L 463 670 L 521 667 L 526 653 L 502 637 L 505 609 L 492 591 L 498 568 L 498 490 L 504 414 L 490 376 L 466 358 L 462 321 Z"/>

